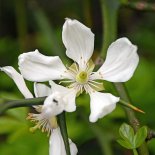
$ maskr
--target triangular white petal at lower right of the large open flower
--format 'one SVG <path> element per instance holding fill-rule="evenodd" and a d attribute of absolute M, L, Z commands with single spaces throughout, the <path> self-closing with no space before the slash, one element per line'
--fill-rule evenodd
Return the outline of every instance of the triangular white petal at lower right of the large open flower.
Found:
<path fill-rule="evenodd" d="M 118 97 L 115 97 L 109 93 L 90 93 L 90 122 L 96 122 L 99 118 L 111 113 L 115 109 L 118 101 Z"/>

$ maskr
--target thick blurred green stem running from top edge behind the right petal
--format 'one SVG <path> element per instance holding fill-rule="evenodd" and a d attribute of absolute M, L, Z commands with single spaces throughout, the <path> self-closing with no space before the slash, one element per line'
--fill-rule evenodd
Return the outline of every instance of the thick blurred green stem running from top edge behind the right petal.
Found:
<path fill-rule="evenodd" d="M 107 51 L 108 46 L 111 42 L 116 39 L 116 32 L 117 32 L 117 14 L 118 9 L 120 6 L 119 0 L 101 0 L 102 10 L 103 10 L 103 23 L 104 23 L 104 48 L 102 53 Z M 106 35 L 105 35 L 106 34 Z M 102 54 L 102 56 L 105 55 Z M 125 89 L 122 83 L 114 83 L 116 90 L 119 96 L 126 102 L 130 102 L 127 90 Z M 130 124 L 137 131 L 140 128 L 139 120 L 136 118 L 135 113 L 133 110 L 129 108 L 124 108 L 129 119 Z M 148 148 L 146 143 L 144 142 L 143 145 L 139 147 L 139 154 L 140 155 L 149 155 Z"/>

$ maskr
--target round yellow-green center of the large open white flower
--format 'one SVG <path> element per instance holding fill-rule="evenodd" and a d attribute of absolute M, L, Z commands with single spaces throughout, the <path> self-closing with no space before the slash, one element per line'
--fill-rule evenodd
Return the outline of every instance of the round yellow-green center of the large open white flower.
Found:
<path fill-rule="evenodd" d="M 81 84 L 87 83 L 88 82 L 87 72 L 81 71 L 80 73 L 78 73 L 76 76 L 76 81 Z"/>

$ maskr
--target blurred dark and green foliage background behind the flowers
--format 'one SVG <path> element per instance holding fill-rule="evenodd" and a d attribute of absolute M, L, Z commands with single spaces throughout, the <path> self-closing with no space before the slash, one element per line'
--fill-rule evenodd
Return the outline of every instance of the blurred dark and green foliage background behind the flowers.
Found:
<path fill-rule="evenodd" d="M 135 75 L 126 86 L 133 103 L 146 112 L 145 115 L 137 114 L 138 118 L 152 129 L 155 129 L 154 16 L 155 12 L 137 11 L 123 6 L 118 15 L 118 37 L 128 37 L 138 46 L 140 55 Z M 96 37 L 95 59 L 104 44 L 104 23 L 101 21 L 99 0 L 0 0 L 0 66 L 11 65 L 17 69 L 18 55 L 36 48 L 45 55 L 59 55 L 64 63 L 69 64 L 61 39 L 66 17 L 78 19 L 92 28 Z M 32 90 L 32 83 L 27 84 Z M 104 82 L 104 86 L 106 91 L 116 95 L 112 84 Z M 0 98 L 23 98 L 13 81 L 4 73 L 0 73 Z M 77 112 L 67 114 L 69 137 L 77 144 L 79 154 L 132 154 L 122 150 L 116 142 L 120 125 L 127 122 L 122 107 L 118 105 L 113 113 L 91 124 L 88 122 L 89 100 L 87 95 L 79 96 Z M 21 155 L 21 152 L 22 155 L 48 154 L 46 134 L 29 132 L 33 124 L 26 121 L 26 117 L 31 110 L 12 109 L 0 117 L 0 155 Z M 155 154 L 154 146 L 154 140 L 148 142 L 151 155 Z"/>

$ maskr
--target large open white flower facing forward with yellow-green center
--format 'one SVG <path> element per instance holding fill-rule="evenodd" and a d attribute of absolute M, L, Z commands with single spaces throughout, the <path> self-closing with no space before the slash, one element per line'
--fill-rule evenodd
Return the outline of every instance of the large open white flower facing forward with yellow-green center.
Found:
<path fill-rule="evenodd" d="M 91 122 L 96 122 L 112 112 L 119 101 L 118 97 L 98 92 L 103 90 L 103 83 L 97 80 L 110 82 L 129 80 L 139 61 L 137 47 L 127 38 L 116 40 L 109 46 L 104 64 L 97 72 L 93 72 L 95 66 L 90 58 L 94 49 L 94 34 L 91 30 L 77 20 L 66 19 L 62 40 L 66 47 L 66 55 L 74 61 L 69 68 L 63 65 L 58 56 L 44 56 L 35 50 L 19 56 L 19 69 L 24 78 L 30 81 L 64 79 L 61 82 L 68 83 L 74 92 L 74 95 L 68 94 L 68 98 L 72 100 L 75 100 L 73 99 L 75 92 L 79 94 L 86 91 L 91 99 L 89 119 Z M 74 110 L 70 108 L 70 111 Z"/>

